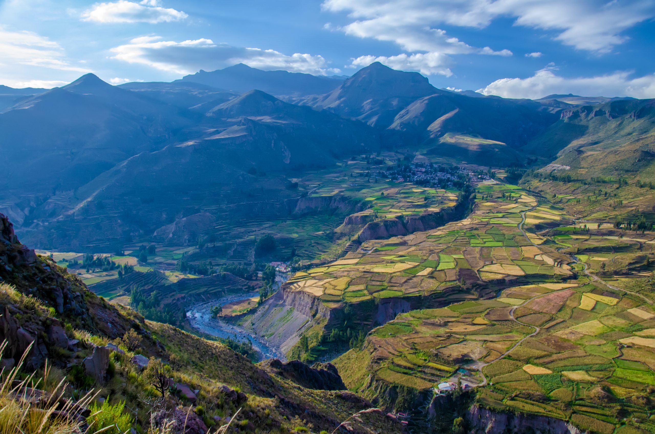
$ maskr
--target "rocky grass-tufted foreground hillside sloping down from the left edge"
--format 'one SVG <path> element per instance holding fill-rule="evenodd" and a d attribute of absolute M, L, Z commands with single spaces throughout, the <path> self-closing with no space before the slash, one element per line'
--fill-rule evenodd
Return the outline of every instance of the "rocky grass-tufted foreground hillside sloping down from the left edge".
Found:
<path fill-rule="evenodd" d="M 3 366 L 21 368 L 18 378 L 35 370 L 33 380 L 16 385 L 43 389 L 26 389 L 28 395 L 54 393 L 62 403 L 83 398 L 78 405 L 89 409 L 65 406 L 44 418 L 45 411 L 52 411 L 48 400 L 32 401 L 34 410 L 21 410 L 16 405 L 23 401 L 2 394 L 3 406 L 15 402 L 12 414 L 50 418 L 47 426 L 71 431 L 95 421 L 92 432 L 103 427 L 115 432 L 111 425 L 117 423 L 120 432 L 134 427 L 138 432 L 200 434 L 234 418 L 231 429 L 240 432 L 318 433 L 371 408 L 339 390 L 343 384 L 329 366 L 252 365 L 222 344 L 107 304 L 54 262 L 21 245 L 5 216 L 0 216 L 0 229 L 0 337 L 7 342 Z M 60 380 L 69 385 L 60 389 Z M 400 432 L 400 424 L 385 417 L 365 412 L 349 427 L 359 433 Z"/>

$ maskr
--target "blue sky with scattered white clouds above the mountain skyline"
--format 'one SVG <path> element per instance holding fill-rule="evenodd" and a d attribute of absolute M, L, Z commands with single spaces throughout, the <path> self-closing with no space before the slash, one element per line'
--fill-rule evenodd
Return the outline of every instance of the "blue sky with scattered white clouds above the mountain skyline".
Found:
<path fill-rule="evenodd" d="M 375 60 L 511 98 L 655 98 L 655 0 L 0 0 L 0 84 L 198 69 L 352 75 Z"/>

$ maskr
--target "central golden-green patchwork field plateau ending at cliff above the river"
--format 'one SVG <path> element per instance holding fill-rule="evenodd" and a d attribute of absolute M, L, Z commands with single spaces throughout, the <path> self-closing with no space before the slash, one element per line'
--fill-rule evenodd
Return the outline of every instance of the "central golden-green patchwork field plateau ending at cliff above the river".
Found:
<path fill-rule="evenodd" d="M 460 285 L 508 286 L 571 277 L 567 256 L 519 224 L 559 222 L 563 211 L 519 187 L 481 184 L 475 210 L 464 220 L 433 231 L 367 241 L 326 266 L 296 273 L 285 290 L 304 291 L 329 307 L 364 300 L 432 296 Z M 530 225 L 531 223 L 527 223 Z M 525 224 L 524 224 L 525 225 Z"/>

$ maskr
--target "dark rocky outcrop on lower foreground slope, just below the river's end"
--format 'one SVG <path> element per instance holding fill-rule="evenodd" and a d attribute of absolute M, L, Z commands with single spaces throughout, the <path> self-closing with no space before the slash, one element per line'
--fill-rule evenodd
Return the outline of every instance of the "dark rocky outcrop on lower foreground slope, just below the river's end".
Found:
<path fill-rule="evenodd" d="M 313 366 L 309 366 L 299 360 L 282 363 L 278 359 L 272 359 L 265 361 L 263 366 L 270 368 L 272 373 L 288 378 L 295 384 L 306 387 L 307 389 L 346 389 L 346 385 L 343 384 L 339 371 L 331 363 L 316 363 Z"/>

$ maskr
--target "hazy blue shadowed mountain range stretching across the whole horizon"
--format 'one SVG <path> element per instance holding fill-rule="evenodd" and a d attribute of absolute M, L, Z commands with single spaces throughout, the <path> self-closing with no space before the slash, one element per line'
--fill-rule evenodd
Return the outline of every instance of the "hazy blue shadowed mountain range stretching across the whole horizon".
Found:
<path fill-rule="evenodd" d="M 280 176 L 284 189 L 284 179 L 380 149 L 496 167 L 623 155 L 608 172 L 652 159 L 652 100 L 468 96 L 379 62 L 346 79 L 236 65 L 173 83 L 112 86 L 86 74 L 51 90 L 1 90 L 18 99 L 0 113 L 0 210 L 39 246 L 55 232 L 65 242 L 79 219 L 106 228 L 96 236 L 88 226 L 94 245 L 117 216 L 131 222 L 128 232 L 153 233 L 207 206 L 159 203 L 149 189 L 179 197 L 206 189 L 231 206 L 244 200 L 235 191 L 263 188 L 258 173 Z M 90 207 L 118 198 L 112 212 Z"/>

